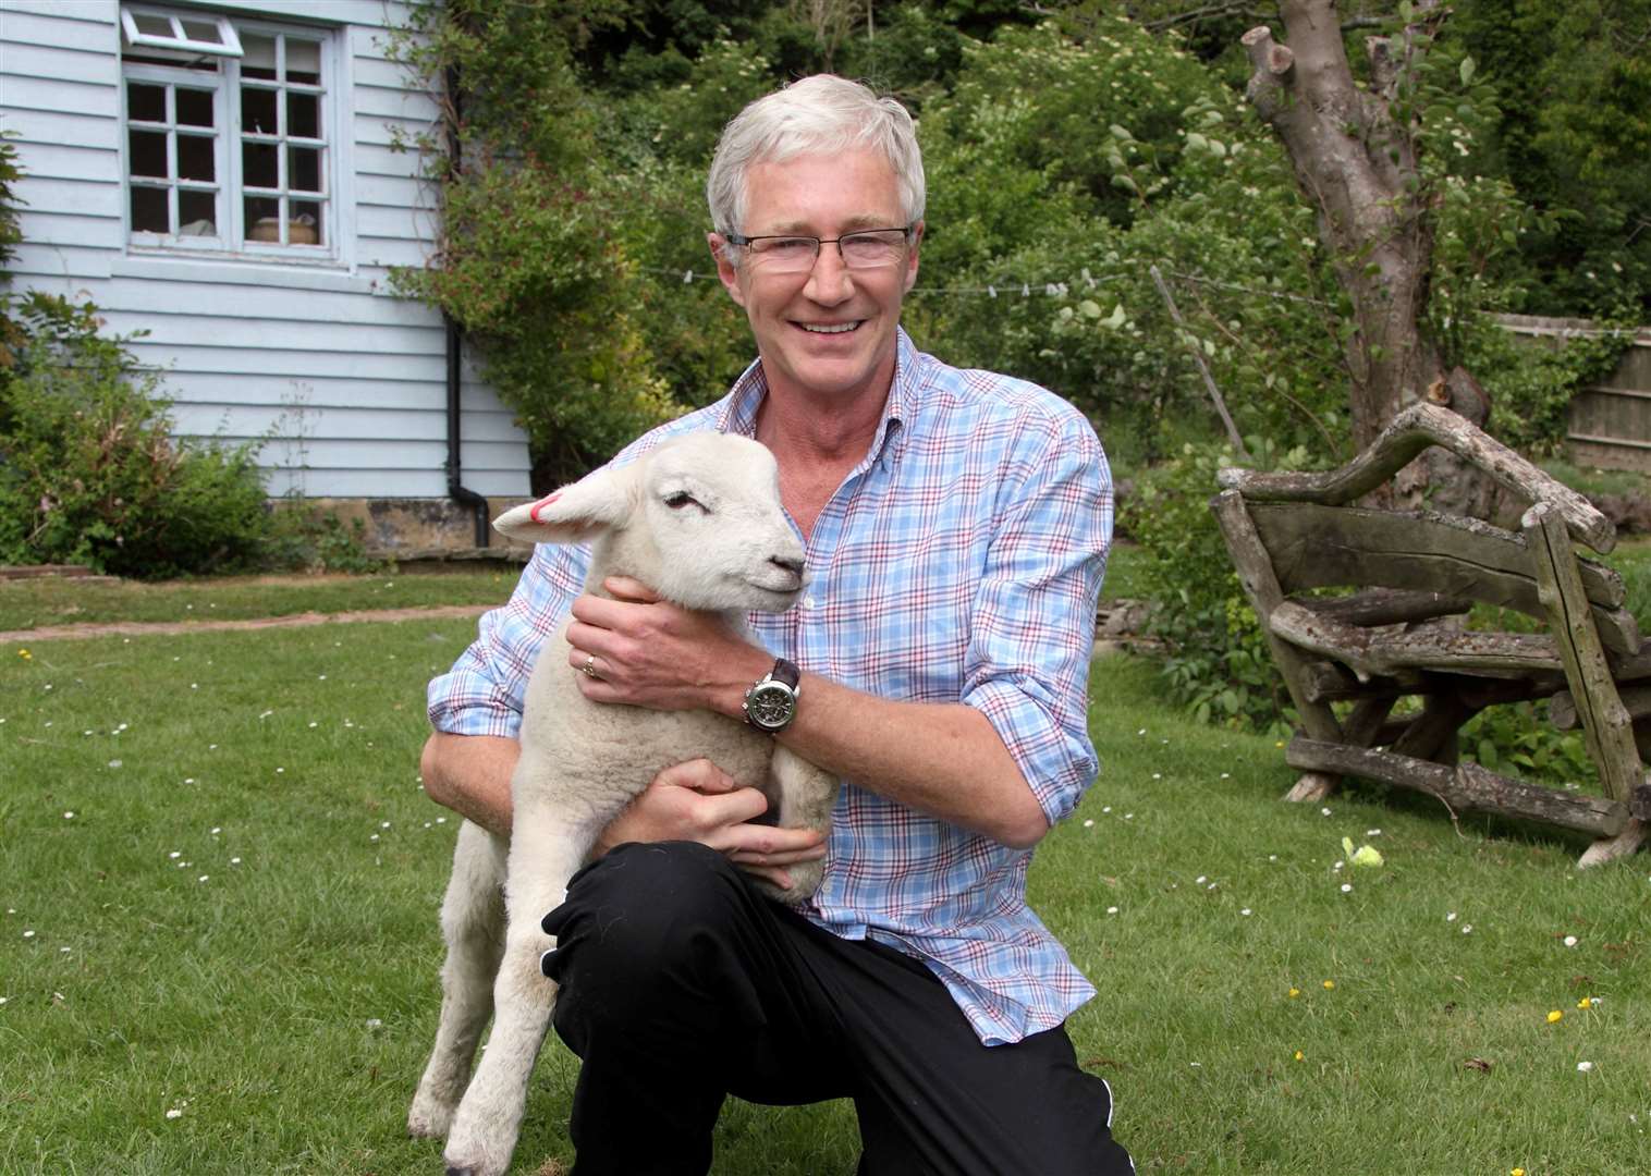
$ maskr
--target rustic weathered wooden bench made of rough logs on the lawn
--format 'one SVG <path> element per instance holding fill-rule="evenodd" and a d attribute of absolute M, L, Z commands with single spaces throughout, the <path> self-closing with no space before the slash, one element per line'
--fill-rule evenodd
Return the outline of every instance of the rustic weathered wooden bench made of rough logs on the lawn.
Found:
<path fill-rule="evenodd" d="M 1530 504 L 1519 532 L 1354 505 L 1435 444 Z M 1341 776 L 1360 776 L 1428 793 L 1451 813 L 1587 832 L 1595 842 L 1582 865 L 1646 839 L 1651 641 L 1623 608 L 1621 576 L 1577 553 L 1616 542 L 1587 499 L 1428 403 L 1339 471 L 1218 477 L 1210 505 L 1301 718 L 1284 761 L 1306 775 L 1289 799 L 1321 799 Z M 1476 603 L 1544 631 L 1466 629 Z M 1535 699 L 1550 700 L 1555 725 L 1582 727 L 1603 796 L 1458 763 L 1458 732 L 1473 715 Z"/>

